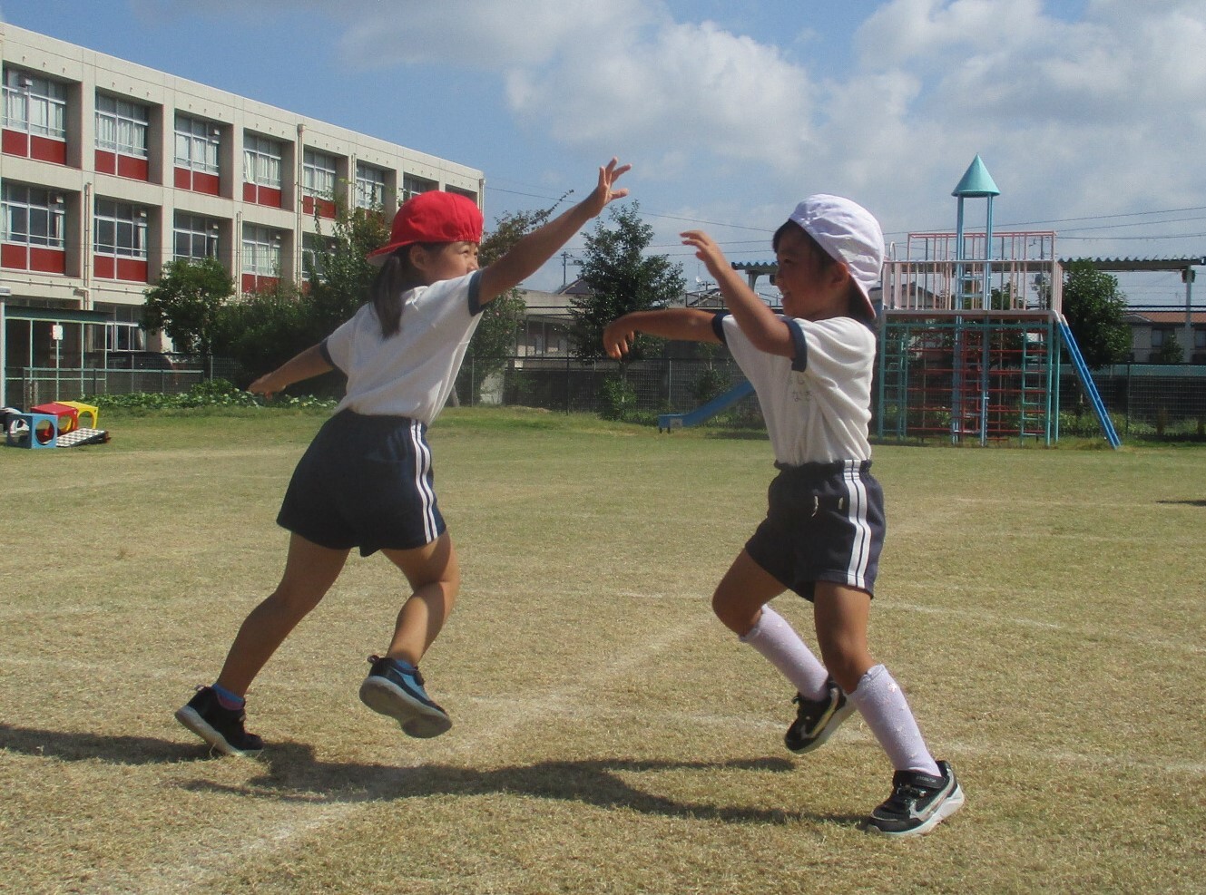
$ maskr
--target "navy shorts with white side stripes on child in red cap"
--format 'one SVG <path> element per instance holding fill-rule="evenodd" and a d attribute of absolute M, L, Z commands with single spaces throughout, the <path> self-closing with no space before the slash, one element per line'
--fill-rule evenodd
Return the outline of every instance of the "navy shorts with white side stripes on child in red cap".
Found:
<path fill-rule="evenodd" d="M 408 550 L 444 534 L 427 424 L 340 411 L 298 461 L 276 522 L 330 549 Z"/>

